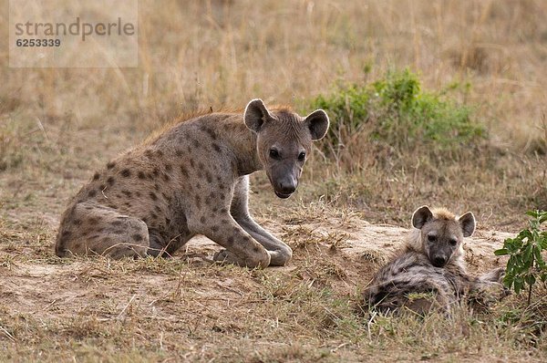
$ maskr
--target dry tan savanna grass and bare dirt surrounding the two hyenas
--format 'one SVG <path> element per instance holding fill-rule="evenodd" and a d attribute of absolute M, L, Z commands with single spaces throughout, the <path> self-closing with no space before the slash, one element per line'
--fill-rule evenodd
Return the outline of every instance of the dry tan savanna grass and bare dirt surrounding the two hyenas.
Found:
<path fill-rule="evenodd" d="M 503 264 L 493 249 L 547 209 L 545 2 L 140 1 L 139 67 L 104 69 L 8 68 L 3 4 L 0 360 L 547 359 L 544 289 L 532 307 L 509 296 L 450 318 L 356 309 L 419 205 L 475 213 L 472 272 Z M 203 238 L 166 260 L 55 256 L 71 195 L 175 115 L 256 97 L 304 112 L 405 67 L 488 135 L 446 151 L 401 132 L 386 147 L 369 138 L 373 115 L 338 135 L 343 148 L 319 145 L 290 200 L 253 176 L 251 209 L 291 264 L 212 264 Z"/>

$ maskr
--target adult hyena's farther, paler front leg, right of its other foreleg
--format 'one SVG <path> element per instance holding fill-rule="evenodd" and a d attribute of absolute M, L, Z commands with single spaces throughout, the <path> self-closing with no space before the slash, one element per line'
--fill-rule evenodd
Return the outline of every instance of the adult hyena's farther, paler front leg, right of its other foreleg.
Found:
<path fill-rule="evenodd" d="M 245 232 L 251 234 L 259 244 L 262 244 L 268 250 L 272 257 L 270 265 L 283 266 L 293 256 L 293 250 L 264 230 L 260 224 L 253 221 L 253 218 L 249 215 L 248 195 L 249 178 L 244 176 L 234 186 L 230 213 Z"/>

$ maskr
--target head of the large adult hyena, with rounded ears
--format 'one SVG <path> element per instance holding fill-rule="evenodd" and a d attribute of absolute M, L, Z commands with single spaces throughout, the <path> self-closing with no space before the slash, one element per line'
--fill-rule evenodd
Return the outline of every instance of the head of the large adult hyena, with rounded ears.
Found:
<path fill-rule="evenodd" d="M 298 179 L 312 141 L 328 130 L 328 116 L 317 109 L 305 118 L 289 109 L 266 109 L 262 99 L 253 99 L 244 114 L 245 125 L 256 133 L 258 157 L 279 198 L 288 198 Z"/>

